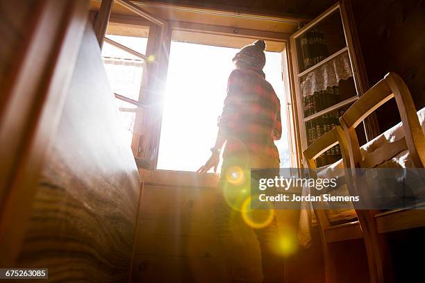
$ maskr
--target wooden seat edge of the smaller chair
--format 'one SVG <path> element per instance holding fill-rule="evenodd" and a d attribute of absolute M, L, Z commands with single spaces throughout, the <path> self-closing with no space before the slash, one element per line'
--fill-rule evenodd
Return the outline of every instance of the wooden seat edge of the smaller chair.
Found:
<path fill-rule="evenodd" d="M 362 228 L 358 221 L 329 226 L 324 229 L 324 234 L 328 243 L 363 238 Z"/>

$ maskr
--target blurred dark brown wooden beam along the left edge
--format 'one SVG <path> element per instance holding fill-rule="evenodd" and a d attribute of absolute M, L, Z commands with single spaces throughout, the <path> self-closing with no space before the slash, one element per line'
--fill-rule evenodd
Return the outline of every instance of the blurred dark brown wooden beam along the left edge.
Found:
<path fill-rule="evenodd" d="M 17 41 L 6 36 L 0 44 L 8 50 L 0 59 L 5 74 L 0 83 L 0 266 L 15 266 L 19 255 L 87 22 L 87 0 L 26 4 L 8 1 L 0 7 L 0 22 L 13 22 L 10 34 L 17 35 Z"/>

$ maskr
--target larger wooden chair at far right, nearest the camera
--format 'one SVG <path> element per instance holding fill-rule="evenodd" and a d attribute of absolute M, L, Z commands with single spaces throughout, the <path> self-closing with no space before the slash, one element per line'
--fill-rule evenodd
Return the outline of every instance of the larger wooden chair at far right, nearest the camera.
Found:
<path fill-rule="evenodd" d="M 358 144 L 356 126 L 369 114 L 374 112 L 383 103 L 395 98 L 403 122 L 404 137 L 398 141 L 383 144 L 372 153 L 362 153 Z M 425 138 L 415 105 L 408 87 L 403 80 L 394 73 L 389 73 L 374 87 L 369 89 L 358 101 L 340 117 L 340 124 L 347 137 L 353 189 L 365 191 L 369 188 L 365 174 L 359 174 L 356 168 L 374 168 L 387 160 L 391 160 L 401 151 L 408 149 L 412 164 L 423 168 L 425 164 Z M 367 248 L 374 253 L 376 264 L 376 280 L 378 282 L 392 282 L 392 267 L 387 243 L 383 233 L 425 226 L 425 209 L 395 209 L 389 212 L 378 210 L 356 209 L 359 221 L 365 235 Z"/>

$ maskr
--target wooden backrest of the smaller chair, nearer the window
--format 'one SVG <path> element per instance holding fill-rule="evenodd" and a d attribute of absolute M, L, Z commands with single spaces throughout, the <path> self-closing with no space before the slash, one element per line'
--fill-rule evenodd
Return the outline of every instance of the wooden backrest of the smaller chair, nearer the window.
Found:
<path fill-rule="evenodd" d="M 340 145 L 340 152 L 342 155 L 342 163 L 344 164 L 344 168 L 350 168 L 350 159 L 347 151 L 347 139 L 344 136 L 344 130 L 342 130 L 341 126 L 335 126 L 324 135 L 313 141 L 313 143 L 310 144 L 310 146 L 308 146 L 305 151 L 303 151 L 304 158 L 306 158 L 307 161 L 308 169 L 310 169 L 310 173 L 313 174 L 313 176 L 311 176 L 312 178 L 317 177 L 317 166 L 315 162 L 317 157 L 337 144 Z M 351 179 L 350 176 L 346 175 L 346 178 L 347 177 Z M 350 180 L 346 180 L 346 182 L 347 185 L 349 185 Z M 349 191 L 351 194 L 350 186 Z M 324 210 L 315 209 L 314 205 L 313 209 L 315 210 L 315 214 L 321 228 L 324 229 L 329 227 L 331 223 L 329 222 Z"/>

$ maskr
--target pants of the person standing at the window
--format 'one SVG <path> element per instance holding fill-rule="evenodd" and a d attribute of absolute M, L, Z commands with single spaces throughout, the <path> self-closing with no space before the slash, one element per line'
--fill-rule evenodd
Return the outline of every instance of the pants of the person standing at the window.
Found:
<path fill-rule="evenodd" d="M 251 282 L 250 266 L 255 264 L 246 255 L 246 247 L 240 234 L 240 225 L 248 225 L 255 232 L 260 250 L 263 282 L 283 282 L 283 257 L 277 255 L 279 237 L 276 216 L 265 227 L 255 228 L 244 221 L 244 200 L 249 198 L 250 169 L 278 168 L 277 158 L 264 155 L 238 155 L 224 157 L 219 178 L 219 194 L 216 206 L 217 235 L 222 243 L 224 256 L 232 282 Z M 265 211 L 265 213 L 270 213 Z M 253 228 L 254 226 L 254 228 Z M 259 268 L 259 266 L 258 266 Z"/>

